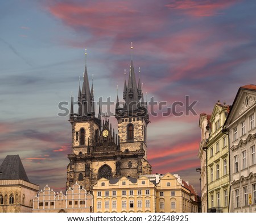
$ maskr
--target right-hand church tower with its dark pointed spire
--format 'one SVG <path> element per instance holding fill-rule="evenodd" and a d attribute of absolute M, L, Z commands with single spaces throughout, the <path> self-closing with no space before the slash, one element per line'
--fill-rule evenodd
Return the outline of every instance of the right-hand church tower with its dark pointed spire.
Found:
<path fill-rule="evenodd" d="M 121 103 L 117 96 L 115 105 L 122 154 L 121 171 L 122 176 L 138 178 L 139 175 L 151 173 L 151 165 L 147 161 L 147 125 L 150 121 L 141 78 L 139 77 L 137 85 L 133 60 L 130 64 L 128 84 L 126 85 L 125 80 L 123 86 L 123 99 L 124 102 Z"/>

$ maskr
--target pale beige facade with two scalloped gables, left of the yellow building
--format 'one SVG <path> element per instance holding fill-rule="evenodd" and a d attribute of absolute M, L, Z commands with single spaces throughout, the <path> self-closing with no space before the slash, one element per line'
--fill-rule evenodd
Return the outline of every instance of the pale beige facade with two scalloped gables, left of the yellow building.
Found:
<path fill-rule="evenodd" d="M 33 213 L 90 213 L 93 195 L 79 184 L 74 184 L 66 194 L 56 193 L 48 185 L 33 199 Z"/>

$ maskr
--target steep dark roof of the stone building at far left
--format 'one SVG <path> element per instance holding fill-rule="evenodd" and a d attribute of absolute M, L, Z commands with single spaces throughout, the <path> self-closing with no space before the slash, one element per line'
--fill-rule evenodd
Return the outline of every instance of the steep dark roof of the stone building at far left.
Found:
<path fill-rule="evenodd" d="M 0 165 L 0 180 L 28 180 L 19 155 L 6 156 Z"/>

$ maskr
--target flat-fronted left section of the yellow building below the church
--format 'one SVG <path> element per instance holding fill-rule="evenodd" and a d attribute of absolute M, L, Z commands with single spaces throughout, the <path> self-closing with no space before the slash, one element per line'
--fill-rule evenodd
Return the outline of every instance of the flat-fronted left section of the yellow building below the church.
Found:
<path fill-rule="evenodd" d="M 101 178 L 93 196 L 94 212 L 155 212 L 155 184 L 144 176 Z"/>

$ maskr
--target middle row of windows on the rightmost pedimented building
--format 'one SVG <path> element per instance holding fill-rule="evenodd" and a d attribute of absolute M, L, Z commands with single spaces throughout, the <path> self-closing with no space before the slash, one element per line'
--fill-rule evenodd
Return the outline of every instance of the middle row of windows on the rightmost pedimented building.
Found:
<path fill-rule="evenodd" d="M 255 145 L 250 147 L 250 159 L 248 163 L 246 150 L 242 151 L 241 153 L 241 169 L 246 169 L 250 165 L 256 164 L 256 154 L 255 154 Z M 239 171 L 239 157 L 238 155 L 234 156 L 234 173 Z"/>

